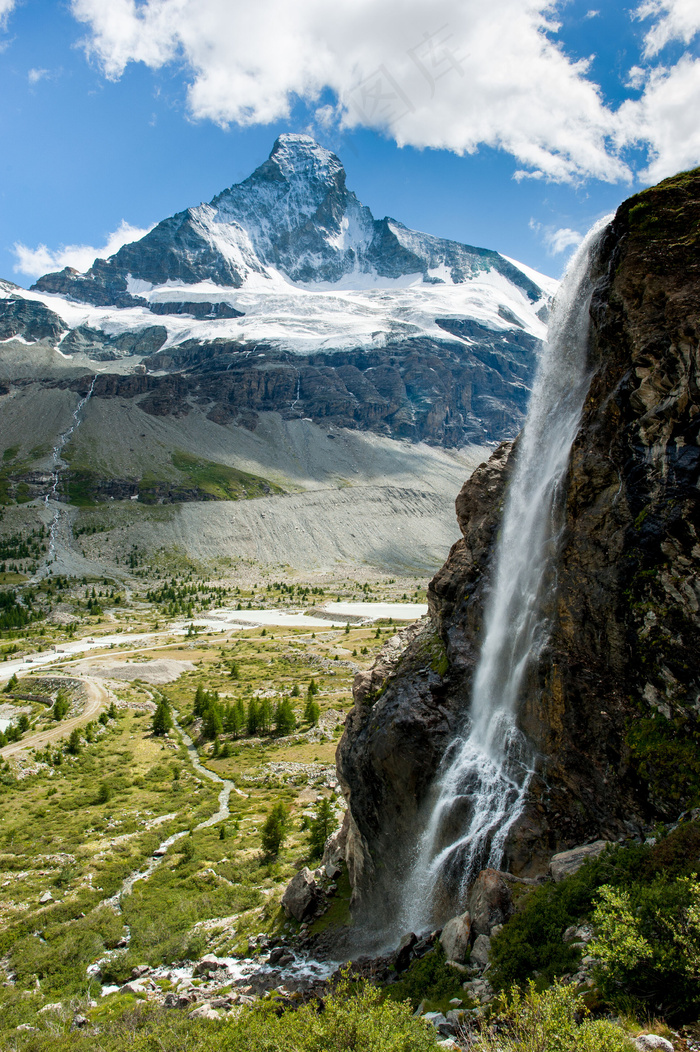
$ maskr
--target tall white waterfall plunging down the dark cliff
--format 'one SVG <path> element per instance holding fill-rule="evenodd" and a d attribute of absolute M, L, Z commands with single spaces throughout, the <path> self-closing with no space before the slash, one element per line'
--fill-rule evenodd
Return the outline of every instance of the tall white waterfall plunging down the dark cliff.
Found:
<path fill-rule="evenodd" d="M 522 812 L 534 756 L 516 723 L 531 658 L 546 640 L 542 599 L 561 531 L 562 484 L 591 377 L 586 367 L 593 264 L 609 217 L 572 260 L 517 447 L 467 725 L 452 743 L 403 888 L 401 931 L 463 908 L 468 884 L 498 868 Z"/>

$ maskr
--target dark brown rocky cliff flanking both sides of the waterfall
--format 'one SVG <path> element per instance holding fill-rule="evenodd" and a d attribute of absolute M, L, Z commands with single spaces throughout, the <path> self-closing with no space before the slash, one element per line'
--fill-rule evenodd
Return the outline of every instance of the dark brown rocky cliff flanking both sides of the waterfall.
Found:
<path fill-rule="evenodd" d="M 696 170 L 626 201 L 603 244 L 551 632 L 519 712 L 538 758 L 506 845 L 515 873 L 700 803 L 699 230 Z M 356 897 L 387 910 L 468 710 L 511 464 L 502 446 L 465 484 L 429 622 L 355 685 L 338 749 L 351 863 Z"/>

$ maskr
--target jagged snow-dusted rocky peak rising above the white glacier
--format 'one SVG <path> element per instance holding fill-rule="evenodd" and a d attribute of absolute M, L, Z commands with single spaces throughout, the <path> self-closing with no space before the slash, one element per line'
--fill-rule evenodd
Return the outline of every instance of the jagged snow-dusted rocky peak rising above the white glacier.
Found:
<path fill-rule="evenodd" d="M 273 281 L 279 272 L 295 283 L 420 275 L 428 283 L 460 284 L 485 271 L 502 275 L 533 303 L 541 299 L 536 282 L 498 252 L 376 220 L 346 188 L 335 154 L 308 136 L 283 135 L 252 176 L 208 204 L 163 220 L 111 259 L 96 260 L 85 275 L 66 267 L 33 287 L 126 306 L 145 304 L 139 292 L 151 289 L 144 286 L 166 282 L 241 288 L 251 278 Z"/>

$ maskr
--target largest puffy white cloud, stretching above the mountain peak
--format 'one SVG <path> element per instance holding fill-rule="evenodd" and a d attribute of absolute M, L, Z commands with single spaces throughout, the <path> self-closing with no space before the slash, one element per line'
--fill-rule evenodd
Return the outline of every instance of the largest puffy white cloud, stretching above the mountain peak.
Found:
<path fill-rule="evenodd" d="M 664 164 L 674 129 L 660 133 L 655 113 L 672 107 L 657 82 L 652 90 L 654 70 L 647 100 L 628 100 L 638 108 L 615 110 L 589 62 L 571 58 L 558 40 L 562 5 L 72 0 L 75 17 L 87 27 L 84 46 L 106 77 L 118 79 L 129 62 L 153 69 L 178 62 L 189 76 L 196 119 L 268 123 L 284 119 L 297 98 L 313 104 L 331 89 L 336 104 L 318 112 L 326 123 L 382 128 L 400 145 L 457 154 L 482 145 L 503 149 L 516 159 L 520 177 L 629 179 L 624 149 L 633 142 L 651 150 L 653 164 Z M 652 21 L 646 58 L 672 39 L 692 38 L 694 5 L 697 0 L 641 0 L 633 14 Z M 664 70 L 661 79 L 674 81 L 674 73 Z M 683 83 L 675 79 L 677 87 Z"/>

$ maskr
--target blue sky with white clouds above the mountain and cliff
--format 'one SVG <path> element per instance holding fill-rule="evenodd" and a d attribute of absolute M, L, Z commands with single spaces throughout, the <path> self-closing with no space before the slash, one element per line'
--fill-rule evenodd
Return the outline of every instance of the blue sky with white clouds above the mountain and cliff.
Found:
<path fill-rule="evenodd" d="M 334 149 L 375 216 L 554 276 L 597 218 L 700 163 L 697 0 L 3 12 L 0 277 L 23 285 L 209 200 L 285 130 Z"/>

